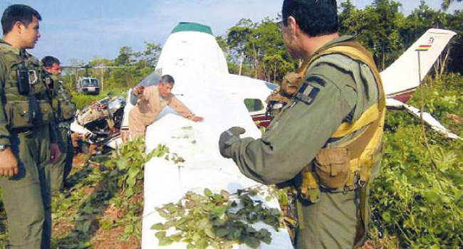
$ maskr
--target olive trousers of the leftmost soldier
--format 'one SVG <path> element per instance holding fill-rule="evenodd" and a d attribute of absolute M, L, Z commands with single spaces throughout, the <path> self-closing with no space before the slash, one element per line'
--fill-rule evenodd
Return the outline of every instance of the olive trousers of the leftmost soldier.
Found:
<path fill-rule="evenodd" d="M 0 176 L 10 248 L 51 248 L 50 131 L 48 126 L 11 132 L 19 174 Z"/>

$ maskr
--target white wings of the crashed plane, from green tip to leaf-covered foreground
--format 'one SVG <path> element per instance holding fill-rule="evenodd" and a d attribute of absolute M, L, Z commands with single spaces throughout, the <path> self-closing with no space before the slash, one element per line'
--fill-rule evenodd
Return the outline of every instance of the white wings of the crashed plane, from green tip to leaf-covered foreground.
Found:
<path fill-rule="evenodd" d="M 260 137 L 244 105 L 252 98 L 264 105 L 271 90 L 264 81 L 230 75 L 227 60 L 208 26 L 199 23 L 180 23 L 174 28 L 162 48 L 156 71 L 175 79 L 172 92 L 204 122 L 192 122 L 180 117 L 170 107 L 165 107 L 157 120 L 147 127 L 145 135 L 147 152 L 166 144 L 171 153 L 185 161 L 175 164 L 162 158 L 153 158 L 145 165 L 144 208 L 142 218 L 142 248 L 157 248 L 155 231 L 150 228 L 164 220 L 155 211 L 165 203 L 176 203 L 187 191 L 208 188 L 219 192 L 224 189 L 234 193 L 238 189 L 259 186 L 246 178 L 231 159 L 219 154 L 219 135 L 229 127 L 246 129 L 244 137 Z M 130 94 L 128 95 L 130 97 Z M 133 105 L 125 106 L 123 128 L 128 127 L 128 113 Z M 263 107 L 264 108 L 264 107 Z M 266 186 L 260 186 L 267 191 Z M 263 198 L 262 198 L 263 197 Z M 264 206 L 280 208 L 278 201 L 258 196 Z M 286 228 L 279 232 L 257 223 L 254 228 L 268 228 L 271 245 L 261 248 L 293 248 Z M 185 248 L 175 243 L 166 248 Z M 246 248 L 240 245 L 239 248 Z"/>

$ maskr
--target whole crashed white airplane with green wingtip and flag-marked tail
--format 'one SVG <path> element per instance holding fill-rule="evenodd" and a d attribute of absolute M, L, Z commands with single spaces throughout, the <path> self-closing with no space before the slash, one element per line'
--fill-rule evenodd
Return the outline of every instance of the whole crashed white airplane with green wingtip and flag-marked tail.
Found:
<path fill-rule="evenodd" d="M 419 110 L 405 102 L 454 34 L 452 31 L 430 29 L 381 73 L 388 106 L 405 107 L 420 116 Z M 421 50 L 420 65 L 417 49 Z M 170 152 L 185 161 L 175 164 L 155 158 L 145 166 L 142 248 L 156 248 L 158 244 L 155 231 L 150 228 L 164 220 L 155 207 L 175 203 L 187 191 L 209 188 L 234 193 L 237 189 L 259 185 L 243 176 L 233 161 L 220 156 L 217 141 L 219 134 L 232 126 L 244 127 L 245 136 L 259 138 L 261 133 L 249 115 L 256 120 L 264 117 L 266 97 L 274 90 L 274 85 L 264 81 L 229 74 L 227 60 L 211 29 L 199 23 L 180 23 L 174 28 L 162 49 L 155 72 L 140 84 L 156 85 L 160 75 L 165 74 L 175 78 L 172 92 L 194 113 L 204 117 L 204 122 L 184 119 L 166 107 L 156 122 L 147 127 L 147 152 L 155 149 L 157 144 L 166 144 Z M 132 107 L 129 94 L 122 129 L 128 128 L 127 117 Z M 423 115 L 423 118 L 433 129 L 448 137 L 457 137 L 432 116 Z M 112 140 L 109 145 L 115 148 L 117 144 L 118 141 Z M 266 206 L 279 208 L 275 199 L 266 201 L 262 196 L 257 198 Z M 257 226 L 265 227 L 261 223 Z M 271 245 L 264 245 L 265 248 L 293 248 L 286 229 L 269 231 L 273 240 Z M 175 243 L 166 248 L 184 247 L 182 243 Z M 245 245 L 240 247 L 246 248 Z"/>

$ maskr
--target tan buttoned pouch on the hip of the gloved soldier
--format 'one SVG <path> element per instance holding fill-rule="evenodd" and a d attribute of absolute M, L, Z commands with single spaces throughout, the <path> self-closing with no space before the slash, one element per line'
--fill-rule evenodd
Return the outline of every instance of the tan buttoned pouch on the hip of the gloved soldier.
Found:
<path fill-rule="evenodd" d="M 315 171 L 320 185 L 327 189 L 343 188 L 348 181 L 349 161 L 347 148 L 323 149 L 318 152 Z"/>

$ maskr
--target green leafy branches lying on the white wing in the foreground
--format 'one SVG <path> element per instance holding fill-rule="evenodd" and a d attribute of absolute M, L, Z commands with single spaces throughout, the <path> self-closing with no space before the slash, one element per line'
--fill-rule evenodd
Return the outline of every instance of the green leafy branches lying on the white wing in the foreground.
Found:
<path fill-rule="evenodd" d="M 249 224 L 262 221 L 279 230 L 280 212 L 265 208 L 261 201 L 254 201 L 249 194 L 239 191 L 238 202 L 230 200 L 230 194 L 222 190 L 214 194 L 204 190 L 204 196 L 188 192 L 177 204 L 168 203 L 157 212 L 165 223 L 157 223 L 152 230 L 159 245 L 187 243 L 187 248 L 231 248 L 234 243 L 257 248 L 264 242 L 271 243 L 271 233 L 262 228 L 256 231 Z M 177 233 L 167 235 L 174 228 Z"/>

